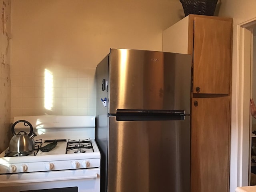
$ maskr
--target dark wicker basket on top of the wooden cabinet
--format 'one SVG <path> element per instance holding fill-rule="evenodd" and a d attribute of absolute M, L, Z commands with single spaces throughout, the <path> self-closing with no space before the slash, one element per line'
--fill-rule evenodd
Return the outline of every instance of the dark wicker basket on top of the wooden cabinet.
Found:
<path fill-rule="evenodd" d="M 185 16 L 188 14 L 214 15 L 218 0 L 180 0 Z"/>

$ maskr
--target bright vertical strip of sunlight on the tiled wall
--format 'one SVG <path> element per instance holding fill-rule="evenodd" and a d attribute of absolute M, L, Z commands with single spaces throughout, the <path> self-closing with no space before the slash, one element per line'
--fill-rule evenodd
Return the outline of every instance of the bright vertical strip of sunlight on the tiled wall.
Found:
<path fill-rule="evenodd" d="M 53 105 L 53 75 L 52 72 L 44 70 L 44 108 L 52 110 Z"/>

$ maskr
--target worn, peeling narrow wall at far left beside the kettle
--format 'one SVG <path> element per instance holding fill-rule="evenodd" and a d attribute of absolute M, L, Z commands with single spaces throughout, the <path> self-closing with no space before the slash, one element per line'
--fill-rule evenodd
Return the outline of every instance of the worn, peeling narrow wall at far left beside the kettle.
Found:
<path fill-rule="evenodd" d="M 0 152 L 9 144 L 10 135 L 10 12 L 11 1 L 0 0 L 1 18 L 4 11 L 4 23 L 0 24 Z"/>

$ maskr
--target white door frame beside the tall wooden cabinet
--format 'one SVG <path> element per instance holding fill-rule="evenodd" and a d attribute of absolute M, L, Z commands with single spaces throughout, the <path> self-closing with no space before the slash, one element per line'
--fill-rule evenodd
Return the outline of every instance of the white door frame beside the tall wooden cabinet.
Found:
<path fill-rule="evenodd" d="M 237 26 L 237 62 L 232 65 L 230 192 L 234 192 L 236 186 L 248 186 L 249 182 L 250 74 L 252 66 L 252 28 L 255 25 L 256 18 Z"/>

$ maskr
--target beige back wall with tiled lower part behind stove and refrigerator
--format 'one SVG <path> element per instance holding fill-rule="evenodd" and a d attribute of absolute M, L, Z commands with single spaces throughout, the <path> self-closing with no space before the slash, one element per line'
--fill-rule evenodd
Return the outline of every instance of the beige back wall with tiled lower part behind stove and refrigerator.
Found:
<path fill-rule="evenodd" d="M 182 17 L 178 0 L 12 0 L 10 121 L 94 115 L 95 68 L 109 49 L 162 50 L 162 31 Z"/>

